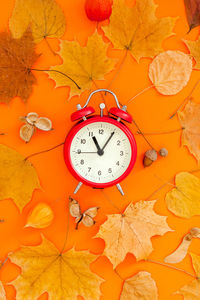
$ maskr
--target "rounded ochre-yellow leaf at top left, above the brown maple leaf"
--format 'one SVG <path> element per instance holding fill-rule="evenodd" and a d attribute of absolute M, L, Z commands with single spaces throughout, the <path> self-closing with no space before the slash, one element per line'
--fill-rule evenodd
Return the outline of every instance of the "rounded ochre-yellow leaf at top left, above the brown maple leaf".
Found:
<path fill-rule="evenodd" d="M 21 38 L 31 25 L 35 42 L 62 37 L 65 16 L 54 0 L 16 0 L 9 27 L 14 38 Z"/>

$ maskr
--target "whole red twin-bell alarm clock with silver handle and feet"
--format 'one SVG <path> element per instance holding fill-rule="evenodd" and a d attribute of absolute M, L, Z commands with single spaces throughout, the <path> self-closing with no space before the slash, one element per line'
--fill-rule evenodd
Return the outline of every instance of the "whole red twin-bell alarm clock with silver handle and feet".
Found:
<path fill-rule="evenodd" d="M 100 115 L 91 116 L 95 110 L 88 103 L 98 92 L 111 93 L 115 98 L 117 106 L 108 115 L 104 115 L 105 104 L 101 103 Z M 124 195 L 119 182 L 131 172 L 137 156 L 135 138 L 123 122 L 132 122 L 126 106 L 121 108 L 110 90 L 98 89 L 90 94 L 83 108 L 77 105 L 71 120 L 78 122 L 66 137 L 64 159 L 70 173 L 79 181 L 74 193 L 82 184 L 99 189 L 116 185 Z"/>

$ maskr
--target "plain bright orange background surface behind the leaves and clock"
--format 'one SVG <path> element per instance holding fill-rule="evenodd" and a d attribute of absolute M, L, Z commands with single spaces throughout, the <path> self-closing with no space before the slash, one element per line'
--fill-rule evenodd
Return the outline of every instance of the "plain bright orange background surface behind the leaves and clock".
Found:
<path fill-rule="evenodd" d="M 85 45 L 87 37 L 96 28 L 96 24 L 89 21 L 85 15 L 84 1 L 57 0 L 67 20 L 67 29 L 63 39 L 76 39 L 81 45 Z M 132 1 L 127 3 L 129 5 L 133 4 Z M 158 17 L 178 17 L 174 27 L 175 35 L 164 41 L 164 49 L 178 49 L 188 53 L 182 39 L 196 39 L 199 29 L 196 28 L 189 35 L 186 34 L 188 25 L 183 0 L 157 0 L 156 3 L 158 4 L 156 11 Z M 1 1 L 1 31 L 8 29 L 8 20 L 11 16 L 13 5 L 14 0 Z M 103 34 L 101 30 L 99 32 Z M 49 39 L 49 42 L 54 50 L 59 50 L 59 41 L 57 39 Z M 34 67 L 47 69 L 50 66 L 61 63 L 61 59 L 58 56 L 52 55 L 44 41 L 37 45 L 37 52 L 42 53 L 42 55 Z M 98 87 L 107 87 L 117 71 L 120 60 L 123 58 L 123 52 L 113 50 L 112 47 L 109 47 L 108 56 L 118 58 L 119 61 L 115 70 L 106 76 L 105 81 L 97 82 Z M 148 66 L 150 62 L 151 59 L 141 59 L 140 63 L 137 64 L 128 55 L 120 74 L 110 87 L 117 94 L 121 103 L 127 101 L 151 84 L 148 79 Z M 0 132 L 6 133 L 4 136 L 0 136 L 0 142 L 16 149 L 24 156 L 51 148 L 63 142 L 66 134 L 73 125 L 70 121 L 71 113 L 75 110 L 76 104 L 83 104 L 88 96 L 88 92 L 85 92 L 81 97 L 77 96 L 69 99 L 69 88 L 62 87 L 55 89 L 55 83 L 48 79 L 48 76 L 44 73 L 35 72 L 35 76 L 37 84 L 34 86 L 33 94 L 27 104 L 24 104 L 21 99 L 15 98 L 11 101 L 10 105 L 0 105 Z M 187 87 L 176 96 L 162 96 L 155 89 L 150 89 L 130 104 L 129 112 L 144 132 L 163 132 L 178 129 L 180 124 L 177 117 L 169 120 L 169 116 L 189 94 L 199 77 L 199 72 L 194 70 Z M 95 89 L 94 86 L 93 89 Z M 196 101 L 198 101 L 199 91 L 200 87 L 193 94 Z M 106 96 L 106 99 L 109 107 L 113 106 L 114 102 L 109 95 Z M 95 96 L 92 105 L 96 106 L 98 110 L 98 103 L 100 102 L 100 96 Z M 40 116 L 49 117 L 53 122 L 54 130 L 51 132 L 38 131 L 31 142 L 25 144 L 19 138 L 19 128 L 22 124 L 19 117 L 31 111 L 37 112 Z M 133 125 L 131 125 L 131 130 L 133 132 L 137 131 Z M 99 190 L 83 186 L 77 196 L 75 196 L 75 199 L 80 202 L 82 210 L 91 206 L 100 206 L 101 209 L 96 218 L 96 225 L 90 229 L 80 225 L 79 230 L 76 231 L 74 229 L 74 219 L 70 217 L 70 235 L 66 249 L 75 245 L 76 250 L 88 249 L 97 255 L 102 254 L 104 241 L 95 239 L 94 236 L 99 229 L 99 225 L 106 220 L 106 214 L 117 213 L 116 209 L 105 198 L 105 195 L 123 211 L 131 201 L 137 202 L 141 199 L 147 199 L 152 192 L 166 181 L 169 181 L 176 173 L 197 169 L 198 166 L 194 157 L 189 154 L 187 148 L 180 147 L 180 136 L 180 132 L 148 136 L 150 142 L 157 150 L 161 147 L 166 147 L 169 155 L 167 158 L 159 158 L 150 168 L 144 169 L 142 158 L 144 152 L 149 149 L 149 146 L 141 136 L 136 135 L 138 159 L 131 175 L 122 182 L 125 192 L 124 197 L 120 196 L 115 187 L 108 188 L 103 195 Z M 24 208 L 22 214 L 19 213 L 18 208 L 12 200 L 7 199 L 0 202 L 0 219 L 5 220 L 4 223 L 0 223 L 0 259 L 2 260 L 5 259 L 8 252 L 19 249 L 20 245 L 39 244 L 41 242 L 41 233 L 53 241 L 59 249 L 62 248 L 65 240 L 68 196 L 72 195 L 77 181 L 66 169 L 62 147 L 32 157 L 30 160 L 37 170 L 42 189 L 36 190 L 33 193 L 32 201 Z M 174 232 L 167 233 L 163 237 L 152 238 L 154 251 L 150 255 L 150 258 L 161 262 L 165 256 L 178 246 L 183 235 L 191 227 L 200 225 L 200 217 L 193 217 L 187 220 L 176 217 L 168 211 L 164 196 L 170 188 L 171 186 L 167 185 L 151 198 L 157 199 L 155 211 L 160 215 L 168 216 L 168 224 L 174 230 Z M 24 228 L 28 212 L 36 203 L 41 201 L 45 201 L 51 205 L 55 212 L 55 219 L 52 225 L 44 230 Z M 200 241 L 195 239 L 192 241 L 190 251 L 200 254 L 199 247 Z M 189 255 L 176 266 L 194 274 Z M 101 300 L 119 299 L 122 280 L 113 271 L 109 260 L 105 256 L 100 256 L 92 264 L 91 268 L 105 279 L 105 282 L 101 285 Z M 158 287 L 159 299 L 162 300 L 182 299 L 182 296 L 172 294 L 181 286 L 193 280 L 190 276 L 182 272 L 164 266 L 143 261 L 136 263 L 134 256 L 130 254 L 117 267 L 117 271 L 122 278 L 130 277 L 140 270 L 146 270 L 152 274 Z M 5 286 L 7 299 L 9 300 L 15 299 L 15 289 L 9 282 L 16 278 L 19 272 L 20 268 L 9 261 L 0 270 L 0 279 Z M 47 294 L 40 297 L 40 299 L 47 298 Z"/>

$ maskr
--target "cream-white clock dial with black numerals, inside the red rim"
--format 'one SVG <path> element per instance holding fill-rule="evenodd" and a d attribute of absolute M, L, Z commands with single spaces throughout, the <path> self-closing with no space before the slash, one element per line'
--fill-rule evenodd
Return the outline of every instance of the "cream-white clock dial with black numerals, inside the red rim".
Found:
<path fill-rule="evenodd" d="M 70 156 L 75 171 L 94 183 L 119 178 L 128 168 L 132 150 L 126 134 L 114 124 L 94 122 L 74 136 Z"/>

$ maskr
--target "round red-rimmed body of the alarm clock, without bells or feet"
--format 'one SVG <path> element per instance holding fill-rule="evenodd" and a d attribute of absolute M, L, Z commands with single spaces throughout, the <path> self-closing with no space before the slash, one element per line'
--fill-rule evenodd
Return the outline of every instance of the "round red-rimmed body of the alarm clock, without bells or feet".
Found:
<path fill-rule="evenodd" d="M 93 117 L 76 126 L 67 155 L 75 177 L 94 187 L 121 181 L 132 169 L 136 156 L 129 129 L 109 117 Z"/>

